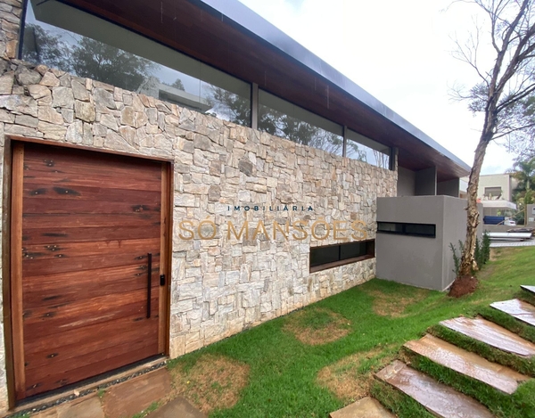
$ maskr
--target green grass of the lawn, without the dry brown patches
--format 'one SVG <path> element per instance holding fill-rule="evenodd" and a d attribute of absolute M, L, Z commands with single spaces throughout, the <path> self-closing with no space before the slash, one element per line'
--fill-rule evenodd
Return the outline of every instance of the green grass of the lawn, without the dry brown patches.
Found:
<path fill-rule="evenodd" d="M 435 326 L 444 319 L 460 315 L 474 316 L 479 311 L 494 315 L 484 308 L 490 302 L 513 298 L 521 284 L 535 284 L 530 283 L 534 268 L 535 248 L 500 250 L 498 259 L 480 272 L 480 288 L 473 295 L 459 299 L 450 299 L 438 291 L 418 293 L 410 286 L 374 279 L 303 308 L 305 315 L 301 314 L 300 323 L 296 320 L 298 326 L 320 328 L 332 320 L 325 315 L 325 310 L 340 314 L 350 322 L 350 334 L 341 340 L 319 346 L 300 343 L 291 332 L 284 330 L 284 324 L 293 320 L 291 314 L 173 360 L 169 368 L 180 366 L 187 371 L 199 357 L 206 354 L 230 357 L 249 365 L 249 384 L 243 389 L 239 402 L 230 409 L 212 412 L 210 417 L 326 417 L 344 406 L 344 401 L 317 383 L 317 374 L 322 368 L 344 357 L 372 351 L 379 345 L 395 352 L 404 342 L 419 338 L 430 327 L 433 327 L 433 333 L 447 334 L 448 330 Z M 384 299 L 377 298 L 378 294 L 399 300 L 410 299 L 416 293 L 420 299 L 415 299 L 405 307 L 402 315 L 380 316 L 374 313 L 374 298 Z M 526 330 L 523 332 L 530 334 Z M 464 343 L 473 347 L 473 341 L 465 340 Z M 485 351 L 486 348 L 474 349 Z M 501 354 L 498 356 L 492 350 L 486 353 L 488 357 L 499 357 L 505 364 L 513 364 L 517 370 L 535 376 L 535 367 L 531 362 L 507 359 Z M 369 379 L 377 366 L 378 361 L 374 359 L 362 362 L 357 368 L 358 379 Z M 478 393 L 482 390 L 478 386 L 474 388 Z M 514 400 L 503 408 L 506 411 L 523 411 L 516 416 L 531 416 L 523 413 L 531 411 L 535 398 L 533 389 L 531 382 L 524 384 Z M 375 381 L 371 392 L 400 416 L 431 416 L 414 401 L 381 382 Z M 490 402 L 489 405 L 498 411 L 502 407 L 498 405 L 500 402 L 497 401 L 496 405 Z M 525 409 L 518 409 L 519 405 L 525 405 Z M 504 412 L 498 416 L 514 416 L 511 414 Z"/>

